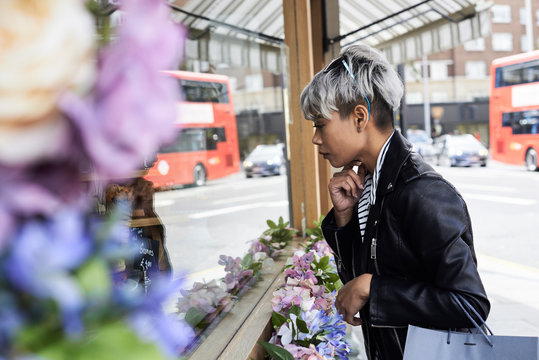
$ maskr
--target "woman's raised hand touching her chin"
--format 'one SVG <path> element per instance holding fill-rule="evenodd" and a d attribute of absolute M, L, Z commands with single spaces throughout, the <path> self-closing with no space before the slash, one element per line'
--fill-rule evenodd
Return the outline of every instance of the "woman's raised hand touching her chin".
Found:
<path fill-rule="evenodd" d="M 357 166 L 357 173 L 353 167 Z M 365 166 L 354 160 L 333 175 L 329 181 L 329 195 L 335 211 L 337 226 L 344 226 L 352 218 L 365 184 Z"/>

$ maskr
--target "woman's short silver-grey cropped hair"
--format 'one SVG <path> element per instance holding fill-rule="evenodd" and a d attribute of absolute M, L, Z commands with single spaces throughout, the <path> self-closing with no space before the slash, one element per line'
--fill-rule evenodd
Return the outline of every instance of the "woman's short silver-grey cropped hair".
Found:
<path fill-rule="evenodd" d="M 376 127 L 380 130 L 393 127 L 393 112 L 399 108 L 404 91 L 396 71 L 379 51 L 367 45 L 349 46 L 341 57 L 350 66 L 357 83 L 344 64 L 320 71 L 301 93 L 305 118 L 329 119 L 335 111 L 344 118 L 356 105 L 368 106 L 366 96 Z"/>

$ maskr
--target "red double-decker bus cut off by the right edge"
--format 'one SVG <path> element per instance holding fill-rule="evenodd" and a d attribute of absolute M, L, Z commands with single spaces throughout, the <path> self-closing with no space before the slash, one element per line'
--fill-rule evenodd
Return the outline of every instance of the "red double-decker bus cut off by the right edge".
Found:
<path fill-rule="evenodd" d="M 492 159 L 539 168 L 539 51 L 496 59 L 490 68 Z"/>

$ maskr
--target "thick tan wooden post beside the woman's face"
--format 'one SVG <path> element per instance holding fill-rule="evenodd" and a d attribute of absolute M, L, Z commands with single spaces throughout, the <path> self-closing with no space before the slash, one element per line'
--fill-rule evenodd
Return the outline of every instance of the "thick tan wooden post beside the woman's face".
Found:
<path fill-rule="evenodd" d="M 339 9 L 337 1 L 324 8 L 324 0 L 283 0 L 283 13 L 290 71 L 292 219 L 294 227 L 303 229 L 331 209 L 331 165 L 311 143 L 312 124 L 301 114 L 299 95 L 314 74 L 339 54 L 338 43 L 324 49 L 325 38 L 339 35 Z"/>

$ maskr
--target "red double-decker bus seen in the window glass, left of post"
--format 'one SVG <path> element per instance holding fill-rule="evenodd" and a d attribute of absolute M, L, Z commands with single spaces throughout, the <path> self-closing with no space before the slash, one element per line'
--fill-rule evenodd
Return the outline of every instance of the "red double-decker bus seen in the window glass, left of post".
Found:
<path fill-rule="evenodd" d="M 240 156 L 230 83 L 224 75 L 167 71 L 178 80 L 178 136 L 163 147 L 145 178 L 154 187 L 204 185 L 239 172 Z"/>

